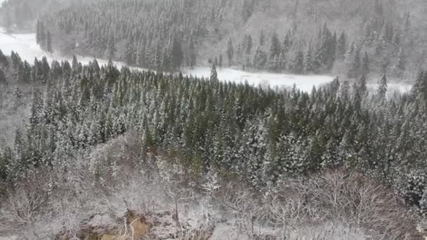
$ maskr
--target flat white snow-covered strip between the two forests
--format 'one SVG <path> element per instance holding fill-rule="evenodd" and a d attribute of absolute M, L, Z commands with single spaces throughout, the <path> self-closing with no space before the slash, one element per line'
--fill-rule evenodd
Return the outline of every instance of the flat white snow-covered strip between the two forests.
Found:
<path fill-rule="evenodd" d="M 1 0 L 0 0 L 1 1 Z M 72 60 L 70 57 L 59 55 L 58 53 L 46 53 L 37 45 L 35 34 L 7 34 L 5 29 L 0 28 L 0 50 L 5 55 L 10 55 L 11 51 L 18 53 L 22 60 L 34 62 L 34 58 L 42 58 L 46 56 L 48 60 Z M 88 63 L 93 58 L 77 56 L 77 60 L 82 63 Z M 97 61 L 101 65 L 107 64 L 107 60 Z M 114 62 L 117 67 L 121 67 L 124 62 Z M 313 86 L 323 86 L 334 79 L 334 76 L 327 75 L 293 75 L 293 74 L 275 74 L 268 72 L 244 72 L 237 69 L 221 68 L 217 69 L 218 79 L 221 81 L 235 81 L 239 83 L 248 82 L 254 86 L 271 86 L 273 88 L 287 87 L 291 88 L 294 85 L 301 91 L 311 91 Z M 183 69 L 183 74 L 207 77 L 211 74 L 209 67 L 195 67 L 192 69 Z M 369 84 L 372 90 L 376 88 L 376 84 Z M 394 91 L 409 91 L 409 84 L 388 84 L 389 93 Z"/>

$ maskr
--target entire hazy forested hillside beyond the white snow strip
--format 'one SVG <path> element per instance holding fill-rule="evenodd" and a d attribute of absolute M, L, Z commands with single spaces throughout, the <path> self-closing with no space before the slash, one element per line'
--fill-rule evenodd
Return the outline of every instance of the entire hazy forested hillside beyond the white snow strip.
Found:
<path fill-rule="evenodd" d="M 47 32 L 55 50 L 152 69 L 215 62 L 401 79 L 424 65 L 423 8 L 394 0 L 100 1 L 46 15 L 37 29 L 49 51 Z"/>

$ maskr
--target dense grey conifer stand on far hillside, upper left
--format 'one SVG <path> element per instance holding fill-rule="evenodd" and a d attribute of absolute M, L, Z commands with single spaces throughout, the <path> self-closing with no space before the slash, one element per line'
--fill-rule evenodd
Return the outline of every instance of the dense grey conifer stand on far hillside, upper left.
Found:
<path fill-rule="evenodd" d="M 42 22 L 51 23 L 47 27 L 61 50 L 169 70 L 196 65 L 197 46 L 218 34 L 227 9 L 235 5 L 230 0 L 100 1 L 67 8 Z"/>

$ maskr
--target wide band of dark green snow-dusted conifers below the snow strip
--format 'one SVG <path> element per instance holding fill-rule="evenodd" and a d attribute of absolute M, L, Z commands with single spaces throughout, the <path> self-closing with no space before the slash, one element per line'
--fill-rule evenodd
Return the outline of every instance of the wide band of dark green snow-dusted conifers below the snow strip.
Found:
<path fill-rule="evenodd" d="M 337 167 L 383 180 L 414 204 L 427 186 L 426 72 L 412 93 L 387 98 L 386 76 L 372 94 L 364 76 L 304 93 L 223 83 L 215 71 L 195 79 L 96 60 L 30 66 L 13 53 L 6 61 L 9 83 L 43 86 L 34 88 L 27 128 L 17 129 L 13 147 L 1 147 L 6 181 L 37 168 L 66 171 L 63 159 L 136 131 L 146 152 L 174 154 L 197 174 L 236 173 L 261 190 Z"/>

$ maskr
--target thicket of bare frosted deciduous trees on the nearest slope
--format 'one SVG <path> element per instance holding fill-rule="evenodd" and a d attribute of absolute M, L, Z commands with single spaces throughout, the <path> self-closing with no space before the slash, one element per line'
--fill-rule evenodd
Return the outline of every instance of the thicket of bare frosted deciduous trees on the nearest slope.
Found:
<path fill-rule="evenodd" d="M 260 194 L 213 172 L 190 178 L 169 156 L 141 159 L 137 138 L 96 147 L 96 156 L 82 156 L 67 173 L 19 182 L 2 201 L 0 235 L 71 239 L 84 236 L 82 229 L 99 236 L 115 229 L 132 236 L 132 213 L 150 225 L 149 239 L 419 239 L 402 199 L 360 174 L 283 179 Z M 114 166 L 114 175 L 103 171 L 112 166 L 98 173 L 86 167 L 112 152 L 127 159 Z"/>

